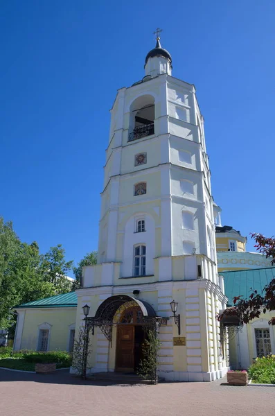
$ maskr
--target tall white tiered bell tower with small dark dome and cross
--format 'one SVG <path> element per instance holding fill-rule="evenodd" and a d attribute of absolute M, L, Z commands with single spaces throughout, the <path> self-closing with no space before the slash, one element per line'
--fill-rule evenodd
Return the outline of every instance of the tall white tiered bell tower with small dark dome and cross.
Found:
<path fill-rule="evenodd" d="M 83 269 L 85 299 L 91 295 L 93 304 L 138 289 L 167 318 L 175 299 L 181 324 L 170 319 L 159 333 L 161 375 L 220 378 L 226 346 L 215 315 L 227 299 L 217 274 L 204 119 L 195 86 L 172 77 L 172 58 L 159 36 L 143 79 L 118 89 L 101 196 L 98 265 Z M 186 345 L 175 347 L 179 334 Z M 115 354 L 109 351 L 107 369 Z"/>

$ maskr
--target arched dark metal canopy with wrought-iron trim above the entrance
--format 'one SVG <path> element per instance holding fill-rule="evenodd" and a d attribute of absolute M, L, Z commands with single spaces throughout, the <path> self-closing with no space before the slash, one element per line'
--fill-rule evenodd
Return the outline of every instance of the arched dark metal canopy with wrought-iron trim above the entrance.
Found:
<path fill-rule="evenodd" d="M 93 318 L 86 318 L 89 329 L 93 329 L 94 333 L 94 327 L 100 327 L 107 340 L 111 341 L 112 327 L 118 324 L 118 322 L 114 322 L 114 317 L 116 311 L 118 311 L 123 304 L 127 304 L 127 307 L 139 306 L 143 313 L 142 323 L 144 325 L 154 325 L 156 327 L 157 324 L 167 324 L 168 318 L 158 317 L 154 308 L 148 304 L 148 302 L 138 300 L 129 295 L 115 295 L 108 297 L 100 304 L 100 306 L 98 306 L 96 315 Z"/>

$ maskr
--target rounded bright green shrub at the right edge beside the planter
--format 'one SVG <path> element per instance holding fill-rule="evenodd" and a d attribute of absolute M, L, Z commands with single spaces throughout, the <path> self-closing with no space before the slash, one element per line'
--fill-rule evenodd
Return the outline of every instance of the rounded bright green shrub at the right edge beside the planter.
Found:
<path fill-rule="evenodd" d="M 249 367 L 249 376 L 255 383 L 275 384 L 275 355 L 256 358 Z"/>

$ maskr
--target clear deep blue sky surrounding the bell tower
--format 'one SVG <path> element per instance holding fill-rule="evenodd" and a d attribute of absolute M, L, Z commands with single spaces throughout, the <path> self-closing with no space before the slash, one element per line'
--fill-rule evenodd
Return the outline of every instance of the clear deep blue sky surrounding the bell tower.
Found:
<path fill-rule="evenodd" d="M 96 250 L 109 109 L 157 26 L 197 89 L 223 224 L 274 234 L 274 14 L 272 0 L 1 2 L 0 214 L 20 239 L 68 260 Z"/>

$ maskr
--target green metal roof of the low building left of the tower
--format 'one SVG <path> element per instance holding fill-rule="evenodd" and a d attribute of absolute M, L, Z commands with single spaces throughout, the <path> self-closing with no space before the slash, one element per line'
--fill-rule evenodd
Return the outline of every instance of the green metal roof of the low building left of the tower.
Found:
<path fill-rule="evenodd" d="M 33 300 L 26 304 L 15 306 L 15 309 L 20 308 L 69 308 L 78 306 L 78 298 L 76 292 L 64 293 L 63 295 L 55 295 L 51 297 L 44 297 L 44 299 Z"/>

